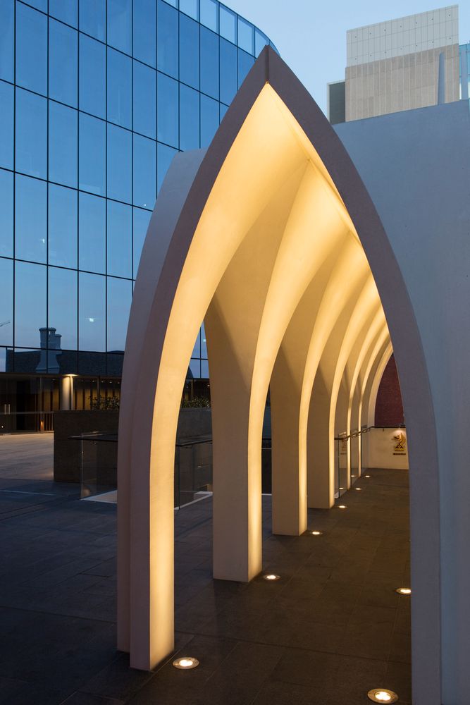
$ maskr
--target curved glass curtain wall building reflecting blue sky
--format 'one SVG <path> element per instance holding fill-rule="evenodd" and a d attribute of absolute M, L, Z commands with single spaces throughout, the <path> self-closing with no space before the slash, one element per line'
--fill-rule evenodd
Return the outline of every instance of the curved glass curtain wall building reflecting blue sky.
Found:
<path fill-rule="evenodd" d="M 118 393 L 163 177 L 267 43 L 216 0 L 1 0 L 0 432 L 58 407 L 62 375 L 73 407 Z M 203 329 L 189 376 L 206 358 Z"/>

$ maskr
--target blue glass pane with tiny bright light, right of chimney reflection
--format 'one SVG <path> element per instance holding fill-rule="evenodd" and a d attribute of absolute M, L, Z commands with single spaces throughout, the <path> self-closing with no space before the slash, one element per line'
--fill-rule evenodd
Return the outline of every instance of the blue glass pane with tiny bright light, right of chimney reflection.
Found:
<path fill-rule="evenodd" d="M 78 274 L 78 348 L 105 350 L 106 346 L 106 277 Z"/>

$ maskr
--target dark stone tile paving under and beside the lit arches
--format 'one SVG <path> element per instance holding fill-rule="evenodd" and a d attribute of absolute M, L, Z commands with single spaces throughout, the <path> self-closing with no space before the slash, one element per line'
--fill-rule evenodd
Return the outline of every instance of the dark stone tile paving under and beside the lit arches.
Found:
<path fill-rule="evenodd" d="M 409 584 L 407 472 L 309 511 L 321 537 L 274 537 L 264 497 L 273 583 L 212 580 L 211 501 L 176 513 L 177 651 L 201 665 L 142 673 L 115 647 L 116 507 L 55 486 L 38 448 L 0 436 L 1 704 L 366 705 L 373 687 L 411 703 L 410 601 L 393 591 Z"/>

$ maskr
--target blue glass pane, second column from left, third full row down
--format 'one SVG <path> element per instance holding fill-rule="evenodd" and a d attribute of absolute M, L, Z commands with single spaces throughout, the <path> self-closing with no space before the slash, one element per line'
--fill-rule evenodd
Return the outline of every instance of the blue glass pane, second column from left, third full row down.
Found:
<path fill-rule="evenodd" d="M 47 261 L 47 183 L 27 176 L 15 181 L 15 254 L 30 262 Z M 36 345 L 36 343 L 27 343 Z"/>

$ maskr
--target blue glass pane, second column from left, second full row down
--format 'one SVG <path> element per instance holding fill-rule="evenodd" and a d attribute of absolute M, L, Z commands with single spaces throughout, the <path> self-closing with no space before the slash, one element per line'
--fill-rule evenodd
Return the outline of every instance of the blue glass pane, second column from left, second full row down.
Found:
<path fill-rule="evenodd" d="M 47 100 L 16 89 L 16 170 L 47 178 Z"/>

